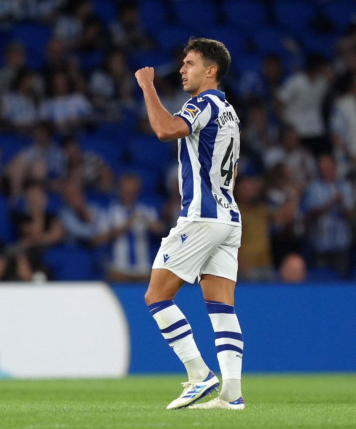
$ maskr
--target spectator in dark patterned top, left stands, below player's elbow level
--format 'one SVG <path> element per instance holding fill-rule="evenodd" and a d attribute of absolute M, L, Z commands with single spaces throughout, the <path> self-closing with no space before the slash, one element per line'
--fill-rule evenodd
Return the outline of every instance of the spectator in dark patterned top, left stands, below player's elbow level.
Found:
<path fill-rule="evenodd" d="M 102 157 L 92 151 L 82 152 L 73 136 L 63 141 L 66 156 L 64 177 L 80 189 L 112 190 L 113 172 Z"/>

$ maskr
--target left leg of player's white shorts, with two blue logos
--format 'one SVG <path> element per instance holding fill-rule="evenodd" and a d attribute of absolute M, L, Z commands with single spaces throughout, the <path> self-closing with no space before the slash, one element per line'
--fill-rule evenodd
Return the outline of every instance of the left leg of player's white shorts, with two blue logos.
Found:
<path fill-rule="evenodd" d="M 167 269 L 194 283 L 205 260 L 228 234 L 229 225 L 180 221 L 162 240 L 153 268 Z"/>

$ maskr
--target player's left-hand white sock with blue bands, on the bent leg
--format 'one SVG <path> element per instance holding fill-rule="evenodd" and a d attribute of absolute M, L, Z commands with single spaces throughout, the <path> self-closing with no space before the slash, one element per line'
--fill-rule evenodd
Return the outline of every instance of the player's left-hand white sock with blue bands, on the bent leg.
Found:
<path fill-rule="evenodd" d="M 163 338 L 184 363 L 189 381 L 204 380 L 209 369 L 202 360 L 198 347 L 196 347 L 188 320 L 174 301 L 155 302 L 149 305 L 148 309 L 156 320 Z"/>

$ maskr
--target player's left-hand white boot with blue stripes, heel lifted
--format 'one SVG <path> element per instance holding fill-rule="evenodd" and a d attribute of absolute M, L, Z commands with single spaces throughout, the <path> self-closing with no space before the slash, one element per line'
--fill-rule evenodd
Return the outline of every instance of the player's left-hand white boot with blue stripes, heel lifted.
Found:
<path fill-rule="evenodd" d="M 206 395 L 210 395 L 213 390 L 218 392 L 220 386 L 219 379 L 213 372 L 209 372 L 209 375 L 205 380 L 198 381 L 197 383 L 190 383 L 189 381 L 181 383 L 184 387 L 181 395 L 167 405 L 167 410 L 172 408 L 185 408 L 188 405 L 194 404 Z"/>

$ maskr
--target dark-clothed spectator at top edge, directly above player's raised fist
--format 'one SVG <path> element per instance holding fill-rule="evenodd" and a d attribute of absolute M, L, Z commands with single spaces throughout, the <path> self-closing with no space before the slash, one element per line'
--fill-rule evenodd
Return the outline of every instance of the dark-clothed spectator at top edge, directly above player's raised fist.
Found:
<path fill-rule="evenodd" d="M 117 20 L 111 26 L 111 33 L 112 43 L 129 52 L 154 47 L 154 43 L 140 25 L 139 9 L 135 1 L 126 0 L 119 3 Z"/>

